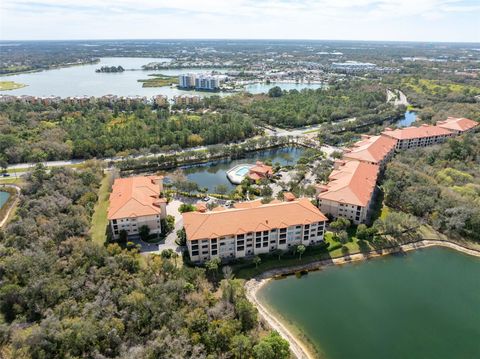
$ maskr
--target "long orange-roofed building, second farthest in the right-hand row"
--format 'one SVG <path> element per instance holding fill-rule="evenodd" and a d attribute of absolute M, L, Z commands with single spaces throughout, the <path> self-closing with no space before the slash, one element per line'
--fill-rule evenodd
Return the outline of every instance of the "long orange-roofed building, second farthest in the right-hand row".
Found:
<path fill-rule="evenodd" d="M 444 142 L 454 135 L 450 130 L 427 124 L 420 127 L 406 127 L 397 130 L 387 128 L 382 132 L 382 136 L 397 140 L 397 150 L 433 146 Z"/>

